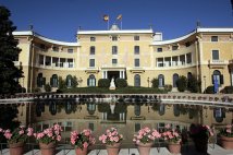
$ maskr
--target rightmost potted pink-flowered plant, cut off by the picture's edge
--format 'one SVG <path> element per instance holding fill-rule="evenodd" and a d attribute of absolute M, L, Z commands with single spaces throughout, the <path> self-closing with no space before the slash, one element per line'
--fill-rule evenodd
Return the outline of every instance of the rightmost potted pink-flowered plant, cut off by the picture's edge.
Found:
<path fill-rule="evenodd" d="M 233 124 L 225 126 L 219 132 L 221 146 L 225 150 L 233 150 Z"/>

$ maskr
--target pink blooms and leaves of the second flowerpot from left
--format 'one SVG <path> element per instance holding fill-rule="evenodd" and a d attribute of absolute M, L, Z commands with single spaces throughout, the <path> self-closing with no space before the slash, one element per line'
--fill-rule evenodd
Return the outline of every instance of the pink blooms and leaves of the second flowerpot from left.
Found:
<path fill-rule="evenodd" d="M 34 133 L 34 136 L 39 143 L 57 143 L 58 141 L 61 141 L 61 127 L 59 124 L 54 124 L 51 128 L 45 129 L 42 132 Z"/>

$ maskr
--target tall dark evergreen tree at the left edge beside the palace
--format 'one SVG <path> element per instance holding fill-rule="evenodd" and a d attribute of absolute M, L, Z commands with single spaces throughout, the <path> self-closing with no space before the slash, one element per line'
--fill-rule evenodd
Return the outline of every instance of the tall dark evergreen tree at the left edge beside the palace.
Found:
<path fill-rule="evenodd" d="M 13 26 L 10 16 L 10 11 L 0 5 L 0 94 L 17 92 L 19 82 L 15 80 L 23 74 L 22 68 L 16 68 L 13 62 L 17 61 L 21 49 L 12 35 L 16 26 Z"/>

